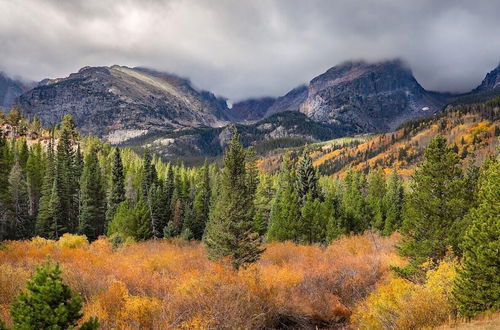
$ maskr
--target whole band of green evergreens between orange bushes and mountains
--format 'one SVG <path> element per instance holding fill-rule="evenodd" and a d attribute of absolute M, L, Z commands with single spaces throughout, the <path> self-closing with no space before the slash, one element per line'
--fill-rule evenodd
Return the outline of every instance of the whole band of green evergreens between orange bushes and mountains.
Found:
<path fill-rule="evenodd" d="M 399 231 L 399 252 L 409 260 L 394 268 L 402 277 L 421 280 L 424 265 L 448 253 L 462 258 L 454 292 L 462 313 L 472 316 L 499 307 L 499 162 L 463 165 L 437 136 L 408 183 L 397 169 L 320 176 L 307 149 L 296 160 L 285 156 L 279 173 L 269 175 L 235 131 L 222 168 L 186 168 L 147 148 L 139 157 L 81 138 L 66 116 L 47 147 L 2 134 L 0 234 L 109 235 L 116 244 L 181 236 L 203 240 L 210 258 L 227 258 L 237 270 L 259 258 L 263 241 L 326 244 L 343 234 Z"/>

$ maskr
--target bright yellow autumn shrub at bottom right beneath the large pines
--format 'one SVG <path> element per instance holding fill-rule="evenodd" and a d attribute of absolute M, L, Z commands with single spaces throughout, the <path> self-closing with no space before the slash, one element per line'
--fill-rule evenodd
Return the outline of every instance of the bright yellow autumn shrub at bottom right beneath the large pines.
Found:
<path fill-rule="evenodd" d="M 422 284 L 392 277 L 355 309 L 351 321 L 359 329 L 422 329 L 443 324 L 456 314 L 451 289 L 457 262 L 442 261 L 426 273 Z"/>

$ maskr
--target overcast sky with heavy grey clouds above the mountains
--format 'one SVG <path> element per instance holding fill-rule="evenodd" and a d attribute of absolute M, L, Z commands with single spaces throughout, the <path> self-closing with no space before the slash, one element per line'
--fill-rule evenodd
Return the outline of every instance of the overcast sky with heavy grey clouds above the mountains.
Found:
<path fill-rule="evenodd" d="M 240 100 L 400 57 L 425 88 L 465 91 L 500 61 L 499 14 L 498 0 L 0 0 L 0 70 L 146 66 Z"/>

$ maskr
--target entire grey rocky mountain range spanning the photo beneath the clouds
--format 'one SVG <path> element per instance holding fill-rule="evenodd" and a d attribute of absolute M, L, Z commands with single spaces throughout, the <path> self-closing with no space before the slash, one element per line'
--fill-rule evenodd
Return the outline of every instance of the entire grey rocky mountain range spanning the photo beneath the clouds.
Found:
<path fill-rule="evenodd" d="M 216 155 L 235 125 L 247 145 L 294 145 L 392 131 L 449 104 L 497 94 L 500 65 L 477 88 L 456 95 L 424 89 L 397 59 L 344 62 L 283 96 L 232 106 L 188 79 L 140 67 L 84 67 L 34 87 L 0 75 L 0 106 L 15 104 L 47 126 L 71 114 L 85 134 L 112 144 L 149 145 L 164 157 Z"/>

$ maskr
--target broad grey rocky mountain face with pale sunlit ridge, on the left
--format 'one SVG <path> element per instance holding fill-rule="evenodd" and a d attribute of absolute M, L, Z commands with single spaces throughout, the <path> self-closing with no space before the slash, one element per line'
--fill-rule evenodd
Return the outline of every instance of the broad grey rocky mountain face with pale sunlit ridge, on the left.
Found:
<path fill-rule="evenodd" d="M 45 80 L 19 97 L 28 115 L 45 125 L 71 114 L 83 133 L 219 127 L 225 100 L 197 91 L 186 79 L 144 68 L 85 67 L 67 78 Z"/>

